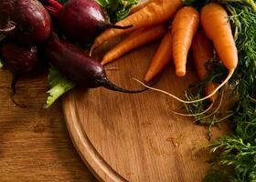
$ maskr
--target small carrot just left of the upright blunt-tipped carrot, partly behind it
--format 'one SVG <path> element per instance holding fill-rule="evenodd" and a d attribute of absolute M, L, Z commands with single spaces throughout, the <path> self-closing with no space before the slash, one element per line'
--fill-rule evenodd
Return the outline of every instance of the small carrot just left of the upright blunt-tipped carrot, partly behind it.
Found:
<path fill-rule="evenodd" d="M 149 82 L 157 74 L 159 74 L 172 58 L 172 36 L 171 32 L 167 31 L 158 46 L 151 64 L 144 76 L 144 81 Z"/>

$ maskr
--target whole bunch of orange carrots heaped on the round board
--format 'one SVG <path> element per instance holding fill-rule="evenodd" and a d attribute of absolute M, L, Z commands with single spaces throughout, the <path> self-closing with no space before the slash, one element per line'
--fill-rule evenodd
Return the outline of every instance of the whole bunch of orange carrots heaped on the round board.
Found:
<path fill-rule="evenodd" d="M 238 51 L 229 25 L 228 14 L 218 3 L 209 3 L 198 12 L 192 6 L 184 6 L 181 0 L 148 0 L 134 7 L 132 14 L 117 25 L 133 25 L 133 27 L 125 30 L 106 30 L 95 39 L 91 46 L 91 53 L 102 43 L 119 35 L 131 33 L 103 56 L 101 64 L 105 65 L 138 46 L 162 38 L 144 76 L 145 82 L 154 79 L 172 59 L 176 66 L 176 76 L 186 76 L 187 54 L 190 48 L 197 77 L 202 81 L 208 76 L 205 65 L 214 56 L 214 50 L 216 51 L 216 55 L 229 70 L 229 74 L 219 86 L 217 83 L 208 83 L 205 87 L 205 97 L 201 99 L 182 100 L 139 81 L 142 85 L 172 96 L 183 103 L 189 104 L 208 99 L 212 106 L 218 98 L 219 89 L 229 81 L 238 64 Z"/>

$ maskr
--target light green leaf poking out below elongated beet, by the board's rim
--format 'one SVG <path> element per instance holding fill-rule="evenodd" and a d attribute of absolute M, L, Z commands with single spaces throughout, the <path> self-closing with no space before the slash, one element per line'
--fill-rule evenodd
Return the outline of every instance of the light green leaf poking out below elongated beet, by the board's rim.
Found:
<path fill-rule="evenodd" d="M 51 106 L 59 96 L 64 95 L 70 89 L 72 89 L 75 84 L 69 81 L 65 76 L 61 75 L 58 69 L 54 66 L 49 68 L 48 83 L 50 89 L 48 90 L 48 99 L 44 108 Z"/>

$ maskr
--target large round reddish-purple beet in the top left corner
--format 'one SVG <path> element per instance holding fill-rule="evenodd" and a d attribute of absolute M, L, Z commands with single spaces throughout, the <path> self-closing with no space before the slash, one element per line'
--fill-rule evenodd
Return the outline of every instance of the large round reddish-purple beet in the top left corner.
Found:
<path fill-rule="evenodd" d="M 42 43 L 50 35 L 48 11 L 37 0 L 1 0 L 0 17 L 0 33 L 20 43 Z"/>

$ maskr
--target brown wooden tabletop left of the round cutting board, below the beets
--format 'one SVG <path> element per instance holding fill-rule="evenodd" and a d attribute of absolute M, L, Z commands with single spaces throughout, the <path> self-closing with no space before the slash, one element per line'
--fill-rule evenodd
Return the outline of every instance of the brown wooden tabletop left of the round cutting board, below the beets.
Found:
<path fill-rule="evenodd" d="M 73 147 L 60 102 L 42 109 L 47 76 L 23 78 L 10 99 L 11 75 L 0 71 L 0 181 L 96 181 Z"/>

